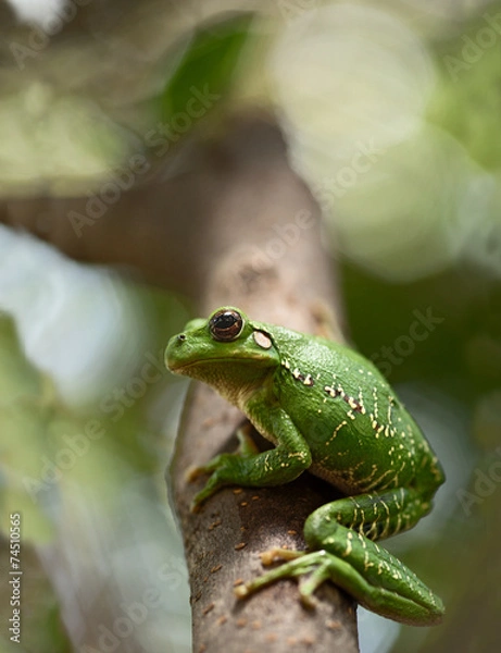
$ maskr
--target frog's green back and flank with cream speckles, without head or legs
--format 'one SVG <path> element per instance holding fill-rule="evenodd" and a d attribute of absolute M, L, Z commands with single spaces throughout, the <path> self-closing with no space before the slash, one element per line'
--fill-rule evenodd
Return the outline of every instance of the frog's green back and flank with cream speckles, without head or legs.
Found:
<path fill-rule="evenodd" d="M 375 366 L 343 345 L 280 330 L 277 398 L 306 440 L 311 471 L 347 494 L 443 473 L 419 428 Z"/>

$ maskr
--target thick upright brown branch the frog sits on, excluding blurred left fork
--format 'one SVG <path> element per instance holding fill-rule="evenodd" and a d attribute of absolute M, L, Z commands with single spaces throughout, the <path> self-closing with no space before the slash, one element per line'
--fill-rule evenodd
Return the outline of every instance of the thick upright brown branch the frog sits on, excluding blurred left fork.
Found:
<path fill-rule="evenodd" d="M 218 174 L 225 190 L 204 215 L 212 266 L 198 293 L 200 315 L 235 305 L 253 319 L 315 333 L 328 321 L 326 307 L 334 307 L 329 321 L 340 337 L 318 207 L 288 168 L 278 132 L 252 122 L 224 151 L 226 164 Z M 171 468 L 192 590 L 193 651 L 218 652 L 229 642 L 233 653 L 312 646 L 317 653 L 358 651 L 353 601 L 330 583 L 317 592 L 314 611 L 301 606 L 293 581 L 277 582 L 243 602 L 233 593 L 236 580 L 263 572 L 260 552 L 304 549 L 304 519 L 334 500 L 331 488 L 304 473 L 281 488 L 222 490 L 200 513 L 189 513 L 204 481 L 188 483 L 186 470 L 235 448 L 230 435 L 241 420 L 211 389 L 193 384 Z"/>

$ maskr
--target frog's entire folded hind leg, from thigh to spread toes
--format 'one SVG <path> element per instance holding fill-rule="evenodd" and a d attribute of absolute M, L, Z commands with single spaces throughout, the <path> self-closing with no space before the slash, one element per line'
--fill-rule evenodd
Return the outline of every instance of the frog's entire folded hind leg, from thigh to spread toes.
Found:
<path fill-rule="evenodd" d="M 404 488 L 326 504 L 306 520 L 304 538 L 310 552 L 266 552 L 265 564 L 276 558 L 289 562 L 240 586 L 237 595 L 246 596 L 279 578 L 310 575 L 300 586 L 306 605 L 311 605 L 316 588 L 330 579 L 361 605 L 383 616 L 416 626 L 436 624 L 443 615 L 440 599 L 370 539 L 410 528 L 428 509 L 429 502 L 416 490 Z"/>

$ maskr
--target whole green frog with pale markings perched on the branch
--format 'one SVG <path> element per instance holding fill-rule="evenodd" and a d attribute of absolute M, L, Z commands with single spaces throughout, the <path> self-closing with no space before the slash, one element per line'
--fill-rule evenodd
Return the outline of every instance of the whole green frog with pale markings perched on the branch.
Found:
<path fill-rule="evenodd" d="M 289 562 L 240 586 L 238 595 L 310 574 L 300 586 L 305 602 L 331 579 L 383 616 L 424 626 L 441 620 L 440 599 L 374 542 L 426 515 L 444 476 L 419 428 L 368 360 L 338 343 L 252 322 L 226 307 L 171 338 L 166 365 L 215 387 L 275 444 L 259 453 L 242 440 L 236 454 L 200 468 L 211 477 L 193 507 L 222 485 L 278 485 L 305 469 L 348 495 L 306 519 L 308 552 L 263 554 L 267 563 Z"/>

